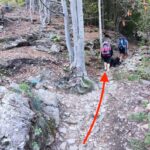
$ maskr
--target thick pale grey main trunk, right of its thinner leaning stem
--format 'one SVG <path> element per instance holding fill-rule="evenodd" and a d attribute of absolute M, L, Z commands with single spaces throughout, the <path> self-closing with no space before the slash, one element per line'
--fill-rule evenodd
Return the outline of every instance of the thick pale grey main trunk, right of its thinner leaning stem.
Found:
<path fill-rule="evenodd" d="M 84 58 L 84 21 L 83 21 L 83 2 L 82 0 L 70 1 L 73 37 L 74 37 L 74 63 L 78 76 L 87 75 Z"/>

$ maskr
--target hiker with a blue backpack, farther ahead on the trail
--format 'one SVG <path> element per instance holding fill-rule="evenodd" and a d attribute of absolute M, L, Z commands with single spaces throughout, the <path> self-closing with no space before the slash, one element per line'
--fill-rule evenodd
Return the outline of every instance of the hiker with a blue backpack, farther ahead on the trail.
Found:
<path fill-rule="evenodd" d="M 125 59 L 128 55 L 128 41 L 125 37 L 119 38 L 118 49 L 120 52 L 120 56 L 119 56 L 120 62 L 122 62 L 123 59 Z"/>

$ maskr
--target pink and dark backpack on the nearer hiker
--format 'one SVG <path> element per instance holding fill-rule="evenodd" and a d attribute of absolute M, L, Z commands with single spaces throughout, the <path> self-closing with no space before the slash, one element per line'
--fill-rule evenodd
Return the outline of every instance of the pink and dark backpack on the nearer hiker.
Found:
<path fill-rule="evenodd" d="M 103 47 L 101 48 L 101 54 L 104 57 L 109 57 L 111 56 L 111 46 L 109 42 L 104 42 Z"/>

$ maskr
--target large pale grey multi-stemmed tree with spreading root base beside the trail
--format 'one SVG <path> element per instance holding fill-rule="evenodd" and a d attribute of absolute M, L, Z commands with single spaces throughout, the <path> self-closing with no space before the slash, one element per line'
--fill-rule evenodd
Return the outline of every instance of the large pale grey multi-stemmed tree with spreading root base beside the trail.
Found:
<path fill-rule="evenodd" d="M 93 87 L 87 77 L 84 54 L 84 19 L 82 0 L 70 0 L 70 11 L 73 29 L 73 46 L 69 33 L 69 17 L 66 0 L 61 0 L 64 12 L 66 43 L 69 51 L 70 68 L 76 75 L 78 92 L 85 92 Z M 81 91 L 82 90 L 82 91 Z"/>

